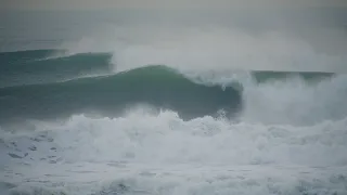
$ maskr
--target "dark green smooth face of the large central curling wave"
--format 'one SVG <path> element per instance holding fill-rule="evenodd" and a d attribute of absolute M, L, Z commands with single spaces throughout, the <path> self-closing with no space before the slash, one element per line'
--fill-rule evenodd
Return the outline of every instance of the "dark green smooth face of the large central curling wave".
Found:
<path fill-rule="evenodd" d="M 113 76 L 0 89 L 2 119 L 55 118 L 78 113 L 118 115 L 144 104 L 178 112 L 183 118 L 235 113 L 241 93 L 193 82 L 166 66 L 147 66 Z"/>

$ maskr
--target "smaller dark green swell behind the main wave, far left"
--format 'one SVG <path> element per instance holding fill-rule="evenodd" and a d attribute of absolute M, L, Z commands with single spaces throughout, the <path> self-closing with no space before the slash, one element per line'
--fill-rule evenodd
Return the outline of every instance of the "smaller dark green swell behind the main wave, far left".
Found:
<path fill-rule="evenodd" d="M 110 72 L 108 53 L 64 53 L 63 50 L 0 53 L 0 87 L 56 82 Z"/>

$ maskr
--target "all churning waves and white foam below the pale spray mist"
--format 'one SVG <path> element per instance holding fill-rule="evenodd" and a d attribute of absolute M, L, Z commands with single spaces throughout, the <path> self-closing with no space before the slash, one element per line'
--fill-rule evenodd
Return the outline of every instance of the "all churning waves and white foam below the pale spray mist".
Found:
<path fill-rule="evenodd" d="M 2 194 L 347 192 L 347 76 L 0 53 Z"/>

